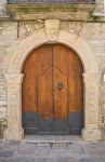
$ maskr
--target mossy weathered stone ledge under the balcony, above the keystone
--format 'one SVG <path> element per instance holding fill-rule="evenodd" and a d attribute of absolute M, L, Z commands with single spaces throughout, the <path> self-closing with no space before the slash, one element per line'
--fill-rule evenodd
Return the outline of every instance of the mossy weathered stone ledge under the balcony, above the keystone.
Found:
<path fill-rule="evenodd" d="M 90 19 L 95 4 L 71 4 L 71 3 L 19 3 L 6 4 L 6 12 L 15 21 L 35 19 Z"/>

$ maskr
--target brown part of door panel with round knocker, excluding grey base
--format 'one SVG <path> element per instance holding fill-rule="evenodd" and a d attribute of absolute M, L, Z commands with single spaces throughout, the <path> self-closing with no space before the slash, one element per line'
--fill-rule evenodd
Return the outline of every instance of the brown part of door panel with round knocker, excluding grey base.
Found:
<path fill-rule="evenodd" d="M 63 87 L 58 84 L 63 84 Z M 54 118 L 67 119 L 67 76 L 57 68 L 53 68 L 54 84 Z"/>

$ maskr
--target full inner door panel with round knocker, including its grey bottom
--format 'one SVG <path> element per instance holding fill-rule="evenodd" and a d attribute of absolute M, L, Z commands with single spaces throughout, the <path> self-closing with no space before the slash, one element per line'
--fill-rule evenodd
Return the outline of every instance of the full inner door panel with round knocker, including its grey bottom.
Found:
<path fill-rule="evenodd" d="M 53 68 L 54 131 L 67 131 L 67 76 Z"/>

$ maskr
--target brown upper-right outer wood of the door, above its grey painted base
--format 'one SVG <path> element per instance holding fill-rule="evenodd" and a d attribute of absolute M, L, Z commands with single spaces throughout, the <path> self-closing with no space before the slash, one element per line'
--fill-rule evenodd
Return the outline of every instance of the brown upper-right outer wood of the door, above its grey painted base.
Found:
<path fill-rule="evenodd" d="M 83 67 L 78 55 L 70 49 L 56 44 L 53 46 L 53 65 L 67 75 L 68 109 L 80 111 L 83 109 Z"/>

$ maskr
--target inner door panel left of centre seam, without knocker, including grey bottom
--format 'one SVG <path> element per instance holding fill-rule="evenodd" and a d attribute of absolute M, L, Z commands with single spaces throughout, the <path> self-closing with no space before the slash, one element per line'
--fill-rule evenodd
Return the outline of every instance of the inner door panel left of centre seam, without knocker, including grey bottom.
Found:
<path fill-rule="evenodd" d="M 38 129 L 53 129 L 52 68 L 38 77 Z"/>

